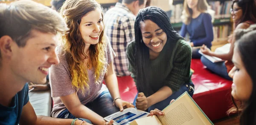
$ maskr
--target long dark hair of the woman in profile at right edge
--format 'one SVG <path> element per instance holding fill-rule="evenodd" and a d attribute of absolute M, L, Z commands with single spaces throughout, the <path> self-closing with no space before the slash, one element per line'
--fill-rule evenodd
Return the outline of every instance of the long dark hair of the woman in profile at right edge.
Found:
<path fill-rule="evenodd" d="M 240 125 L 256 125 L 256 25 L 251 25 L 247 29 L 235 31 L 235 43 L 241 56 L 241 60 L 253 82 L 253 90 L 249 100 L 246 102 L 235 102 L 232 97 L 234 107 L 230 108 L 228 114 L 238 112 L 240 114 Z"/>

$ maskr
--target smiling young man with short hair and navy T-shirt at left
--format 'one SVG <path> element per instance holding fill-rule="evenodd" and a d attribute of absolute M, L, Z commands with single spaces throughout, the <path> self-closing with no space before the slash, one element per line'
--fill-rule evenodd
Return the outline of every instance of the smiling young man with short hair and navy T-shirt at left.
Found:
<path fill-rule="evenodd" d="M 0 125 L 90 125 L 36 116 L 27 82 L 46 82 L 58 64 L 56 34 L 68 30 L 57 12 L 31 0 L 0 3 Z"/>

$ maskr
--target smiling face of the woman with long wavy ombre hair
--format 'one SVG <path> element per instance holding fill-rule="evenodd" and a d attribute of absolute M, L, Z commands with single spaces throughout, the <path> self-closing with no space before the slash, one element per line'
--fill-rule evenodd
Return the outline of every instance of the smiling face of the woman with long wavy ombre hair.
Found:
<path fill-rule="evenodd" d="M 81 18 L 79 31 L 86 44 L 97 44 L 103 31 L 102 13 L 100 8 L 88 12 Z"/>

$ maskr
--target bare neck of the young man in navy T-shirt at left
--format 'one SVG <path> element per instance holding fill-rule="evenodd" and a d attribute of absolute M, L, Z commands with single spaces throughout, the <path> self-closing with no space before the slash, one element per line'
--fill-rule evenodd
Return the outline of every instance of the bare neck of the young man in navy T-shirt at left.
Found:
<path fill-rule="evenodd" d="M 0 105 L 9 107 L 12 98 L 20 92 L 26 82 L 22 82 L 20 78 L 15 77 L 15 74 L 6 67 L 0 68 Z"/>

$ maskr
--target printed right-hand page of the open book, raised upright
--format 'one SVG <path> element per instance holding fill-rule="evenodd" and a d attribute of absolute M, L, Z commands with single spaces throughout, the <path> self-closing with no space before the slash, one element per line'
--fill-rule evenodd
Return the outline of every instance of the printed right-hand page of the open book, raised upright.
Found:
<path fill-rule="evenodd" d="M 183 94 L 163 112 L 164 116 L 157 116 L 163 125 L 212 125 L 188 94 Z"/>

